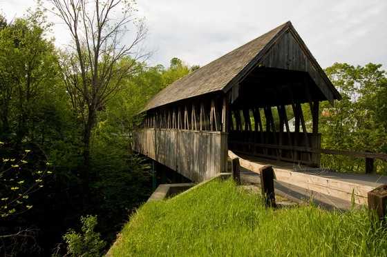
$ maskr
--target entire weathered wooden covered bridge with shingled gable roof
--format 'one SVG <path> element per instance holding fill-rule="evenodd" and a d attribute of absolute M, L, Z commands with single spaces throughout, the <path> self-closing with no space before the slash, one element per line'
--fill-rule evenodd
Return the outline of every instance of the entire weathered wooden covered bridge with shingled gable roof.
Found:
<path fill-rule="evenodd" d="M 316 167 L 319 101 L 340 97 L 289 21 L 156 94 L 133 150 L 196 182 L 225 172 L 228 150 Z"/>

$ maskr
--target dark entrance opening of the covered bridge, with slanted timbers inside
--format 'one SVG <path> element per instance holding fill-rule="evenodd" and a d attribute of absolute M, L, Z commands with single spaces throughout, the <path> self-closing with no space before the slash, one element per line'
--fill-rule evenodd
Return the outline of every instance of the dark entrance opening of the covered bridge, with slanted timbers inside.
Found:
<path fill-rule="evenodd" d="M 229 150 L 319 166 L 319 101 L 324 99 L 308 72 L 256 68 L 229 105 Z"/>

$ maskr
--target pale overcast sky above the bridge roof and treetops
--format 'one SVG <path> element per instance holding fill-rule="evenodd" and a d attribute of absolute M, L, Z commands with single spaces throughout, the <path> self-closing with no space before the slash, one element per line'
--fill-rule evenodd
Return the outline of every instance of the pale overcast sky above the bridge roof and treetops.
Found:
<path fill-rule="evenodd" d="M 7 19 L 19 17 L 30 0 L 0 0 Z M 149 34 L 149 62 L 168 65 L 176 56 L 190 65 L 205 65 L 277 25 L 292 21 L 325 68 L 334 62 L 381 63 L 387 69 L 387 1 L 213 1 L 138 0 Z M 68 41 L 60 24 L 57 45 Z"/>

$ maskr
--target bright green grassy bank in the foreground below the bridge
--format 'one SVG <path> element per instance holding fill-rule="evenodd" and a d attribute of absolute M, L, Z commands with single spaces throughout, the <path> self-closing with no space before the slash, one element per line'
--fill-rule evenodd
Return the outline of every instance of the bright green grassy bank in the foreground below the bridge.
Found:
<path fill-rule="evenodd" d="M 374 227 L 372 229 L 372 227 Z M 378 227 L 378 226 L 376 226 Z M 111 249 L 113 256 L 387 256 L 387 233 L 366 209 L 265 209 L 232 181 L 213 181 L 146 203 Z"/>

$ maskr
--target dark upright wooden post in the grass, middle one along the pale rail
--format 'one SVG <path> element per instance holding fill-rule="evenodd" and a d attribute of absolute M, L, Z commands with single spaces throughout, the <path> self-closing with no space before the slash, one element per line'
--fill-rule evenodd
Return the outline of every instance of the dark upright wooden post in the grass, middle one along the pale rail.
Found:
<path fill-rule="evenodd" d="M 266 207 L 276 207 L 276 195 L 274 194 L 274 169 L 265 165 L 259 169 L 261 174 L 262 196 Z"/>

